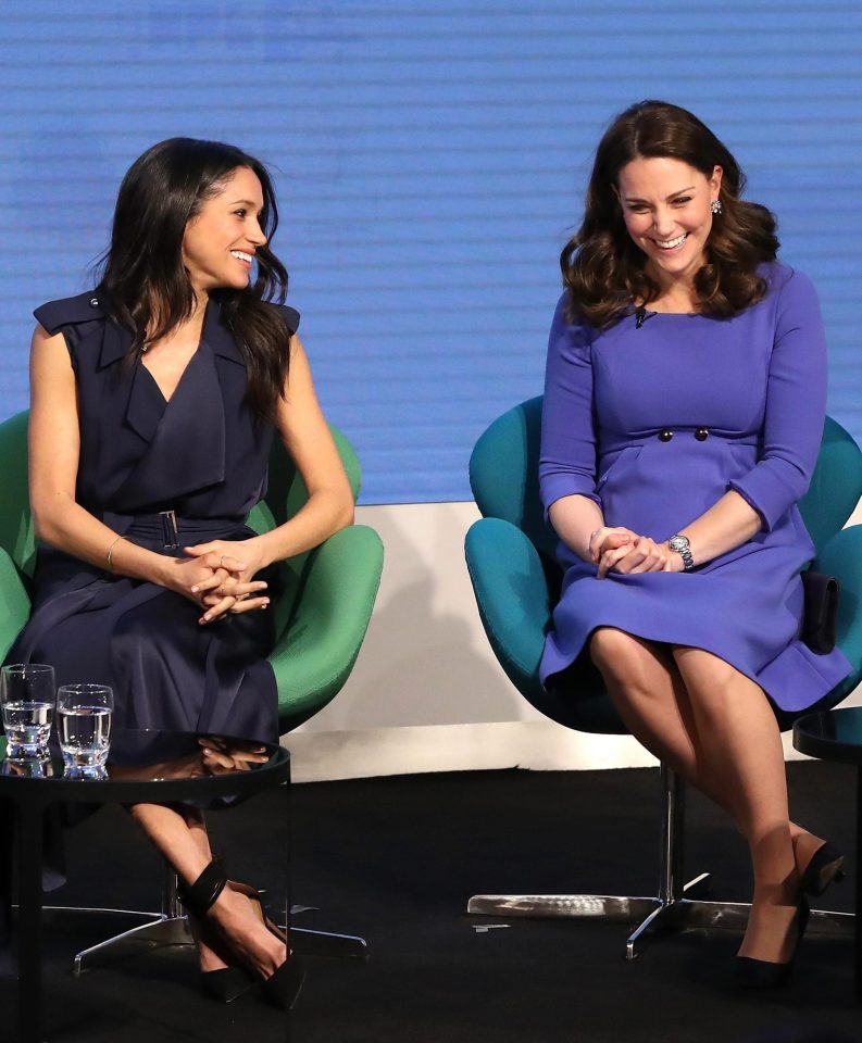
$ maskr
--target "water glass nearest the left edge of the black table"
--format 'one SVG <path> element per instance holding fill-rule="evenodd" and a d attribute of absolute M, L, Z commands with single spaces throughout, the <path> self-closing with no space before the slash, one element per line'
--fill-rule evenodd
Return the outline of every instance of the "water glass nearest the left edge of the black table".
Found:
<path fill-rule="evenodd" d="M 45 757 L 54 718 L 54 668 L 43 663 L 13 663 L 0 670 L 0 702 L 7 757 Z"/>

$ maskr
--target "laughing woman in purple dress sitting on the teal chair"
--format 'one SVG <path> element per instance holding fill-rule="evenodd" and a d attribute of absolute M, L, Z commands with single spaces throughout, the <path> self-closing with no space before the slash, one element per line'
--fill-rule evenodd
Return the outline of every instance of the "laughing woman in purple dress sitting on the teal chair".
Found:
<path fill-rule="evenodd" d="M 541 675 L 589 655 L 626 727 L 732 815 L 754 872 L 737 977 L 757 987 L 787 977 L 804 893 L 841 863 L 789 820 L 771 701 L 809 706 L 850 666 L 799 640 L 817 299 L 742 184 L 664 102 L 599 144 L 548 350 L 540 483 L 565 577 Z"/>

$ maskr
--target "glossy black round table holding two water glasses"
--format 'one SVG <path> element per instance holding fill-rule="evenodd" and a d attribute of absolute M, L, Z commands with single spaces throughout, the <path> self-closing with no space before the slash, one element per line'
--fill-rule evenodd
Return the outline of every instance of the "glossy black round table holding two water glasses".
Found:
<path fill-rule="evenodd" d="M 264 746 L 265 764 L 205 774 L 200 751 L 204 739 L 225 750 Z M 0 757 L 5 739 L 0 738 Z M 63 762 L 51 757 L 40 768 L 33 763 L 3 759 L 0 764 L 0 801 L 10 808 L 17 846 L 18 922 L 18 1038 L 21 1043 L 43 1043 L 41 1009 L 41 900 L 42 843 L 46 812 L 52 804 L 177 804 L 218 805 L 282 788 L 285 815 L 289 814 L 290 754 L 274 744 L 250 743 L 223 736 L 190 732 L 117 730 L 111 739 L 107 779 L 63 776 Z M 289 882 L 289 852 L 285 852 Z M 0 897 L 11 905 L 11 880 L 0 869 Z M 286 901 L 285 922 L 289 922 Z M 8 943 L 8 939 L 5 940 Z"/>

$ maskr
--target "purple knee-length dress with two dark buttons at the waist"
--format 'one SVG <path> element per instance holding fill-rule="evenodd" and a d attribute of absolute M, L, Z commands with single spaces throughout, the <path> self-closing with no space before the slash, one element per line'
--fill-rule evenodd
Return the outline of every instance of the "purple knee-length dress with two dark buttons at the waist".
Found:
<path fill-rule="evenodd" d="M 811 281 L 777 262 L 769 292 L 730 319 L 635 315 L 609 329 L 551 326 L 539 479 L 546 511 L 579 493 L 605 524 L 657 541 L 684 529 L 729 489 L 762 518 L 741 546 L 692 573 L 611 573 L 560 542 L 564 568 L 542 681 L 615 627 L 649 641 L 705 649 L 798 711 L 850 673 L 839 649 L 799 640 L 800 570 L 814 556 L 797 503 L 823 433 L 826 349 Z"/>

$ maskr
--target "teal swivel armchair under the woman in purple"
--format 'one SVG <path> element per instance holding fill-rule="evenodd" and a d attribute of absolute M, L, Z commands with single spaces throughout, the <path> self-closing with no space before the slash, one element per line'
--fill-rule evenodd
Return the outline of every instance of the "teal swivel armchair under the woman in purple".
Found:
<path fill-rule="evenodd" d="M 467 568 L 485 631 L 509 679 L 540 713 L 578 731 L 624 734 L 598 670 L 586 665 L 567 679 L 575 699 L 546 691 L 538 676 L 545 636 L 551 624 L 562 573 L 554 560 L 557 538 L 546 524 L 539 500 L 538 458 L 541 398 L 508 411 L 485 431 L 471 457 L 473 494 L 483 517 L 466 536 Z M 862 678 L 862 526 L 842 529 L 862 495 L 862 452 L 847 431 L 827 418 L 811 488 L 800 504 L 816 546 L 813 567 L 837 576 L 842 594 L 838 643 L 852 673 L 816 706 L 827 709 L 845 699 Z M 573 692 L 574 694 L 575 692 Z M 787 730 L 794 715 L 780 714 Z M 666 766 L 660 770 L 663 809 L 658 894 L 624 895 L 474 895 L 469 913 L 497 917 L 603 917 L 638 923 L 626 942 L 626 957 L 659 930 L 745 927 L 749 906 L 705 902 L 695 896 L 709 875 L 683 883 L 682 780 Z M 812 913 L 811 929 L 846 933 L 852 917 Z"/>

